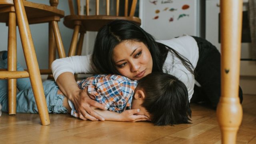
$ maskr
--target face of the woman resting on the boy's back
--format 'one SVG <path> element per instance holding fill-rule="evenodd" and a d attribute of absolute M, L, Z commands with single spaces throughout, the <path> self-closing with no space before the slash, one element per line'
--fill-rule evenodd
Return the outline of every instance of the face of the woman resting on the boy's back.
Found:
<path fill-rule="evenodd" d="M 112 58 L 116 70 L 131 80 L 140 80 L 152 72 L 152 56 L 143 42 L 121 42 L 114 48 Z"/>

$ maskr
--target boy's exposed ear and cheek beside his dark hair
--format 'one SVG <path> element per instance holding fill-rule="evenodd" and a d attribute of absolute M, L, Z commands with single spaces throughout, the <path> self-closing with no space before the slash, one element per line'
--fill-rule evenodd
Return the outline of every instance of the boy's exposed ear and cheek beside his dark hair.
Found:
<path fill-rule="evenodd" d="M 149 112 L 146 110 L 146 108 L 144 108 L 142 106 L 142 103 L 144 102 L 144 92 L 143 90 L 136 90 L 134 97 L 132 99 L 132 109 L 140 109 L 140 112 L 137 113 L 137 115 L 144 115 L 147 116 L 150 119 L 150 114 Z"/>

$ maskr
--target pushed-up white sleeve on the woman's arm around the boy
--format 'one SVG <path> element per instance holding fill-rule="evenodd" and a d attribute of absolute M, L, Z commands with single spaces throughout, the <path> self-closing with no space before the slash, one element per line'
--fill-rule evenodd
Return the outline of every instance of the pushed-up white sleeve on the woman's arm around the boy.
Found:
<path fill-rule="evenodd" d="M 58 76 L 64 72 L 92 73 L 91 56 L 71 56 L 67 58 L 56 59 L 52 62 L 52 74 L 56 81 Z"/>

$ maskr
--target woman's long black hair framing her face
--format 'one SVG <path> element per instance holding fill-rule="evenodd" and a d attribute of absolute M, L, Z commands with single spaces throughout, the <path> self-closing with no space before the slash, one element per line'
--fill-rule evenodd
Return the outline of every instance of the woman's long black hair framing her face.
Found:
<path fill-rule="evenodd" d="M 152 72 L 162 72 L 162 67 L 168 51 L 175 54 L 184 66 L 193 73 L 192 64 L 175 50 L 155 41 L 154 37 L 144 31 L 140 26 L 127 20 L 114 20 L 103 26 L 95 39 L 92 54 L 92 64 L 98 74 L 120 74 L 112 60 L 113 50 L 116 45 L 124 40 L 143 42 L 149 49 L 153 60 Z"/>

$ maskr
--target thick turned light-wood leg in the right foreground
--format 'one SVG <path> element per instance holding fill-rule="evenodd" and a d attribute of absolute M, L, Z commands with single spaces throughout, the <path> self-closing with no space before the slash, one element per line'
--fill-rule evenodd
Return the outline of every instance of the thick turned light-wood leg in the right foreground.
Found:
<path fill-rule="evenodd" d="M 222 144 L 235 144 L 242 122 L 238 97 L 242 32 L 242 0 L 221 0 L 221 98 L 217 119 Z"/>

